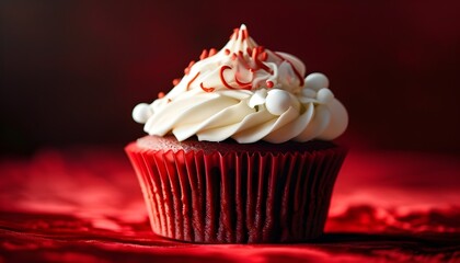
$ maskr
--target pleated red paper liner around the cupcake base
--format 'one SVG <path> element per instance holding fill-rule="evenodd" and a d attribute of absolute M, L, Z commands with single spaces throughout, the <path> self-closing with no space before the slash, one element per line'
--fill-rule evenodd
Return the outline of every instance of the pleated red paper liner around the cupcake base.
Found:
<path fill-rule="evenodd" d="M 299 242 L 322 235 L 346 150 L 262 153 L 126 147 L 153 232 L 199 243 Z"/>

